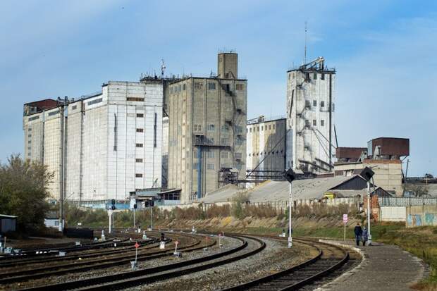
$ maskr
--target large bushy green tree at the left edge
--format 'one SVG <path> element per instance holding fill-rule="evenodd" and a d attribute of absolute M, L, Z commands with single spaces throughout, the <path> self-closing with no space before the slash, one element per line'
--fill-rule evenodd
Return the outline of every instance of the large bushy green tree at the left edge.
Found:
<path fill-rule="evenodd" d="M 19 230 L 42 228 L 53 175 L 42 163 L 11 155 L 8 163 L 0 164 L 0 213 L 18 216 Z"/>

